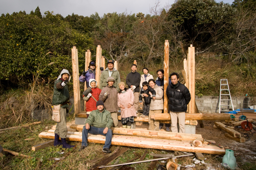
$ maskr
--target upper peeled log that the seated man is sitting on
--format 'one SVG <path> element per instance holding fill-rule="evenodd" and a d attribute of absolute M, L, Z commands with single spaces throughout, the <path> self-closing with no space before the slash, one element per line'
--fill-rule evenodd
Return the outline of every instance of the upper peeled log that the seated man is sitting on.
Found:
<path fill-rule="evenodd" d="M 82 130 L 83 125 L 70 125 L 70 128 L 76 130 Z M 113 134 L 117 135 L 133 135 L 133 136 L 143 136 L 159 139 L 170 139 L 170 140 L 203 140 L 200 134 L 187 134 L 187 133 L 174 133 L 165 131 L 150 131 L 141 129 L 127 129 L 127 128 L 111 128 Z M 71 132 L 70 132 L 71 133 Z"/>

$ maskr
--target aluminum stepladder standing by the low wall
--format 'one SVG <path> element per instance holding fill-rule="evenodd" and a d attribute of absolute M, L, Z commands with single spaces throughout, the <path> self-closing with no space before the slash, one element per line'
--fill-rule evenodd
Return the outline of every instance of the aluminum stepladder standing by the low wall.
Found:
<path fill-rule="evenodd" d="M 222 99 L 223 96 L 227 96 L 229 99 Z M 223 108 L 223 106 L 225 108 Z M 230 111 L 229 110 L 230 106 L 232 107 L 232 111 L 233 111 L 234 107 L 233 107 L 233 102 L 232 102 L 231 95 L 230 95 L 228 81 L 227 81 L 227 79 L 221 79 L 221 82 L 220 82 L 219 113 L 229 112 Z"/>

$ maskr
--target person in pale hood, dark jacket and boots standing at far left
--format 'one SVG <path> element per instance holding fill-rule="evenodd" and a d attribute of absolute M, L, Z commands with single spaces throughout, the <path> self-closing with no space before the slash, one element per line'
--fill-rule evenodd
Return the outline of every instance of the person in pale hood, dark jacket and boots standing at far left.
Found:
<path fill-rule="evenodd" d="M 67 129 L 67 117 L 66 117 L 66 109 L 69 107 L 69 88 L 67 83 L 70 81 L 71 77 L 69 71 L 67 69 L 62 69 L 58 79 L 54 83 L 53 89 L 53 99 L 52 104 L 53 108 L 57 108 L 60 114 L 60 122 L 57 122 L 56 129 L 54 131 L 54 146 L 62 144 L 62 148 L 73 148 L 74 145 L 70 145 L 66 142 L 66 136 L 68 133 Z M 61 138 L 61 142 L 59 141 L 59 137 Z"/>

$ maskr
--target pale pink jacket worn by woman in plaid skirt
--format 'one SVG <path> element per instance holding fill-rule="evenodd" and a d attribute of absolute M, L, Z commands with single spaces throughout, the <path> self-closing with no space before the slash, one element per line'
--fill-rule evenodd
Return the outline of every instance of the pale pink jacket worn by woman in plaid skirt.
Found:
<path fill-rule="evenodd" d="M 125 93 L 118 93 L 118 107 L 120 105 L 123 105 L 125 108 L 121 108 L 121 117 L 131 117 L 131 116 L 137 116 L 136 110 L 134 108 L 134 94 L 131 89 L 128 89 Z M 131 104 L 132 107 L 127 108 L 128 105 Z"/>

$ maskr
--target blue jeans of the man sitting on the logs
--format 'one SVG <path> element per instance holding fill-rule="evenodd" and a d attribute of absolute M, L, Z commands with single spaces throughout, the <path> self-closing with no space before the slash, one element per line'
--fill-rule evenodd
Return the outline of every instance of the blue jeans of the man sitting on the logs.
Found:
<path fill-rule="evenodd" d="M 84 145 L 85 147 L 87 147 L 88 143 L 87 143 L 87 139 L 88 139 L 88 133 L 91 133 L 93 135 L 102 135 L 106 137 L 105 140 L 105 144 L 103 146 L 104 148 L 108 148 L 110 149 L 110 145 L 111 145 L 111 141 L 112 141 L 112 130 L 109 129 L 108 132 L 106 134 L 103 133 L 103 130 L 105 128 L 96 128 L 94 126 L 90 126 L 90 129 L 87 130 L 86 126 L 83 126 L 82 128 L 82 145 Z"/>

